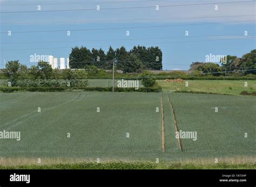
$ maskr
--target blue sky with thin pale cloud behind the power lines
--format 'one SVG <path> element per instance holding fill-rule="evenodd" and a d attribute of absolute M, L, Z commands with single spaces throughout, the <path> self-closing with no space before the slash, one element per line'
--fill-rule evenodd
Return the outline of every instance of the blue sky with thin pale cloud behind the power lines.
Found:
<path fill-rule="evenodd" d="M 0 68 L 4 67 L 4 59 L 18 59 L 22 64 L 36 65 L 30 62 L 30 56 L 35 53 L 68 58 L 71 47 L 76 45 L 89 49 L 102 47 L 105 52 L 110 45 L 114 49 L 123 45 L 127 51 L 134 45 L 159 46 L 163 52 L 164 70 L 187 70 L 193 61 L 205 61 L 205 56 L 210 53 L 241 57 L 256 48 L 255 1 L 231 3 L 235 1 L 242 0 L 0 0 L 1 12 L 37 11 L 37 5 L 41 5 L 41 11 L 37 12 L 0 13 Z M 188 5 L 202 3 L 204 5 Z M 97 11 L 97 5 L 100 5 L 102 10 Z M 158 11 L 153 7 L 156 5 L 160 6 Z M 215 5 L 218 5 L 218 10 L 215 10 Z M 142 8 L 145 6 L 150 7 Z M 129 7 L 131 9 L 123 9 Z M 95 10 L 42 12 L 77 9 Z M 120 27 L 124 29 L 114 29 Z M 79 29 L 87 30 L 71 31 L 70 36 L 66 34 L 68 30 Z M 9 30 L 13 32 L 11 36 L 8 36 Z M 56 30 L 60 31 L 21 33 Z M 127 30 L 130 36 L 126 36 Z M 188 31 L 188 36 L 185 36 L 185 31 Z M 248 36 L 244 36 L 245 31 Z"/>

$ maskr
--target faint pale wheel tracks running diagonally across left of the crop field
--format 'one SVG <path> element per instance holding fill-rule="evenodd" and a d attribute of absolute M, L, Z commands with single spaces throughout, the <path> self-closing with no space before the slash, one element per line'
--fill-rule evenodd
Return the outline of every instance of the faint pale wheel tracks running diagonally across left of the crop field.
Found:
<path fill-rule="evenodd" d="M 75 101 L 75 102 L 80 101 L 80 100 L 84 99 L 84 98 L 87 96 L 87 94 L 86 94 L 85 96 L 82 96 L 82 98 L 80 98 L 81 95 L 82 95 L 82 93 L 80 93 L 76 98 L 74 98 L 74 99 L 72 99 L 72 100 L 63 102 L 63 103 L 61 103 L 61 104 L 59 104 L 59 105 L 56 105 L 56 106 L 52 106 L 52 107 L 49 107 L 49 108 L 45 108 L 42 112 L 44 112 L 44 111 L 46 111 L 46 110 L 49 110 L 49 109 L 54 109 L 54 108 L 57 108 L 57 107 L 60 107 L 60 106 L 69 104 L 69 103 L 72 102 L 72 101 Z M 42 113 L 42 112 L 41 112 L 41 113 Z M 7 123 L 5 123 L 5 124 L 2 124 L 0 127 L 4 127 L 4 126 L 6 126 L 6 125 L 8 125 L 8 124 L 10 124 L 10 123 L 15 123 L 16 121 L 19 121 L 19 122 L 16 123 L 15 125 L 13 125 L 13 126 L 11 126 L 11 127 L 9 127 L 9 128 L 6 129 L 6 130 L 9 130 L 9 129 L 13 128 L 13 127 L 18 126 L 18 125 L 21 124 L 24 120 L 31 119 L 32 117 L 34 117 L 34 116 L 37 115 L 37 114 L 38 114 L 37 111 L 31 112 L 31 113 L 28 113 L 28 114 L 24 114 L 24 115 L 22 115 L 21 117 L 18 117 L 17 119 L 15 119 L 15 120 L 12 120 L 12 121 L 9 121 L 9 122 L 7 122 Z M 28 116 L 28 117 L 27 117 L 27 116 Z"/>

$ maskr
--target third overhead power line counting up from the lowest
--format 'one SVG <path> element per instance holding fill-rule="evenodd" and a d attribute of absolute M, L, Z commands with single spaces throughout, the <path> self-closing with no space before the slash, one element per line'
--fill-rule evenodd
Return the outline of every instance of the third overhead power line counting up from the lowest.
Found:
<path fill-rule="evenodd" d="M 225 24 L 225 23 L 245 23 L 255 22 L 255 20 L 246 20 L 238 22 L 218 22 L 218 23 L 196 23 L 196 24 L 179 24 L 179 25 L 156 25 L 156 26 L 131 26 L 131 27 L 110 27 L 99 29 L 72 29 L 72 30 L 46 30 L 46 31 L 12 31 L 12 33 L 33 33 L 33 32 L 66 32 L 66 31 L 96 31 L 96 30 L 116 30 L 116 29 L 145 29 L 145 28 L 157 28 L 157 27 L 172 27 L 172 26 L 190 26 L 190 25 L 212 25 L 212 24 Z M 8 32 L 0 32 L 6 34 Z"/>

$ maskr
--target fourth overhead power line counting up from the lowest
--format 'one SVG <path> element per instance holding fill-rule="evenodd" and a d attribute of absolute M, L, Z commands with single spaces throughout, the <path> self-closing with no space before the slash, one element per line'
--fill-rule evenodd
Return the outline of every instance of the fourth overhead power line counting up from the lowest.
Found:
<path fill-rule="evenodd" d="M 246 17 L 255 15 L 234 15 L 234 16 L 209 16 L 209 17 L 184 17 L 184 18 L 154 18 L 154 19 L 116 19 L 116 20 L 86 20 L 86 21 L 65 21 L 65 22 L 17 22 L 1 24 L 63 24 L 63 23 L 99 23 L 99 22 L 139 22 L 151 20 L 175 20 L 175 19 L 203 19 L 203 18 L 223 18 L 223 17 Z"/>

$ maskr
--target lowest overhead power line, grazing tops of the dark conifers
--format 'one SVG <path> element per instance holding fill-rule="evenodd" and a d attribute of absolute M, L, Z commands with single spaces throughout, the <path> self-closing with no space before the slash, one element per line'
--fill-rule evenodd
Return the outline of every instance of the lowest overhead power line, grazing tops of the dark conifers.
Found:
<path fill-rule="evenodd" d="M 147 43 L 147 44 L 140 44 L 140 45 L 156 45 L 156 44 L 177 44 L 177 43 L 194 43 L 194 42 L 201 42 L 201 41 L 219 41 L 219 40 L 234 40 L 234 39 L 254 39 L 256 37 L 243 37 L 243 38 L 228 38 L 228 39 L 211 39 L 211 40 L 195 40 L 195 41 L 174 41 L 174 42 L 163 42 L 163 43 Z M 133 45 L 136 46 L 137 44 L 123 44 L 123 45 Z M 108 47 L 110 45 L 102 45 L 98 47 Z M 111 46 L 120 46 L 120 45 L 111 45 Z M 0 51 L 15 51 L 15 50 L 50 50 L 50 49 L 71 49 L 71 47 L 45 47 L 45 48 L 30 48 L 30 49 L 1 49 Z M 96 46 L 87 46 L 87 47 L 96 47 Z"/>

